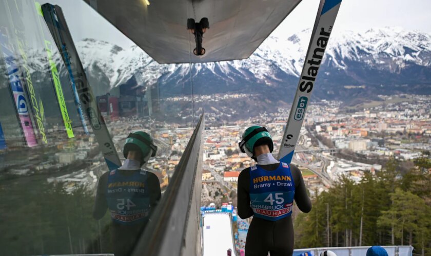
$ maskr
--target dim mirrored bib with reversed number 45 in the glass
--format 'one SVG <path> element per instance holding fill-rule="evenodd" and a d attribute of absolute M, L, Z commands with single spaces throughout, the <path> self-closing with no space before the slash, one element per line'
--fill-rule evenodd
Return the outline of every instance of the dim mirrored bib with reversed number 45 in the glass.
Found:
<path fill-rule="evenodd" d="M 150 197 L 147 191 L 147 176 L 145 170 L 135 171 L 130 176 L 121 175 L 117 170 L 111 170 L 106 195 L 114 222 L 135 224 L 148 219 Z"/>

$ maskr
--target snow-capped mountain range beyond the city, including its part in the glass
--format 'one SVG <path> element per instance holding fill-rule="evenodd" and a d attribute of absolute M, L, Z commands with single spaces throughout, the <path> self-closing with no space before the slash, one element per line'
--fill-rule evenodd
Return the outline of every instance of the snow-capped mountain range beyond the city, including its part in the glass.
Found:
<path fill-rule="evenodd" d="M 189 94 L 190 77 L 195 94 L 256 92 L 295 90 L 310 36 L 310 29 L 287 38 L 270 36 L 248 59 L 193 65 L 160 65 L 136 46 L 122 49 L 94 39 L 77 42 L 76 48 L 91 80 L 105 81 L 100 92 L 126 83 L 159 82 L 166 96 Z M 346 85 L 429 85 L 431 34 L 402 28 L 334 32 L 320 71 L 321 89 L 315 94 L 322 98 L 337 97 L 338 88 Z M 416 89 L 431 93 L 429 87 Z"/>

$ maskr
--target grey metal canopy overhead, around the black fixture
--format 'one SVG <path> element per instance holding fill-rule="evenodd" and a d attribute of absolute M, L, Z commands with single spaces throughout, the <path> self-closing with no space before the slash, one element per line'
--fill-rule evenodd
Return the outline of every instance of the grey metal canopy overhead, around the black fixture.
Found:
<path fill-rule="evenodd" d="M 159 63 L 248 58 L 301 0 L 84 0 Z M 148 5 L 149 3 L 149 5 Z M 187 18 L 209 19 L 195 56 Z"/>

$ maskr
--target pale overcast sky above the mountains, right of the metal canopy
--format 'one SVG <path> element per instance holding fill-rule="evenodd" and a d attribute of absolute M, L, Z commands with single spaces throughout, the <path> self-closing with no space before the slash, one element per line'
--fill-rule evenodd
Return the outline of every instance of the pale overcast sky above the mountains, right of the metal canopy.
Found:
<path fill-rule="evenodd" d="M 319 3 L 320 0 L 303 0 L 273 34 L 291 35 L 312 28 Z M 402 27 L 431 33 L 430 11 L 430 0 L 344 0 L 332 32 L 365 32 L 370 28 Z"/>

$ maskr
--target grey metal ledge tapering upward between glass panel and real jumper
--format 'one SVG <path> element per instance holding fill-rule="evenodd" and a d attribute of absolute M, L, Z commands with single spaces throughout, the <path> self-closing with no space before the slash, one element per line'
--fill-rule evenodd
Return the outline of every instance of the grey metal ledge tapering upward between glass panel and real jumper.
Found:
<path fill-rule="evenodd" d="M 202 254 L 199 220 L 204 125 L 202 115 L 132 255 Z"/>

